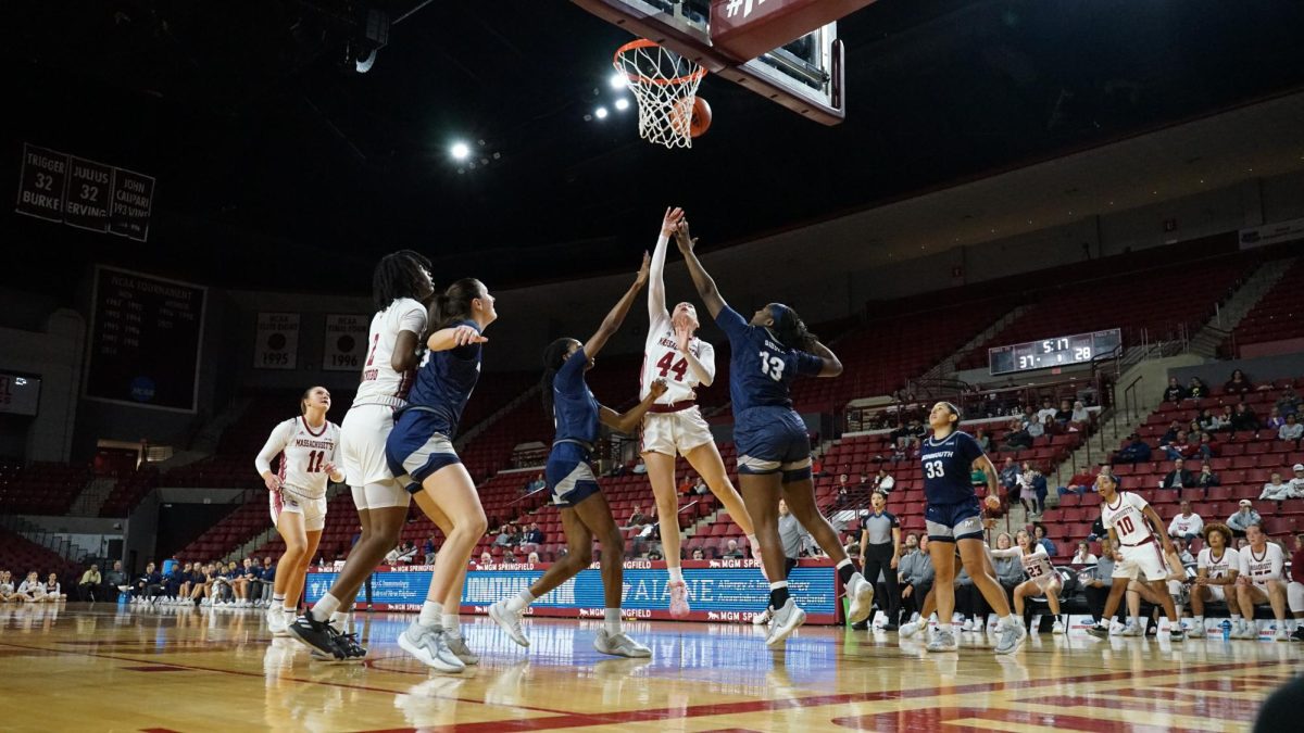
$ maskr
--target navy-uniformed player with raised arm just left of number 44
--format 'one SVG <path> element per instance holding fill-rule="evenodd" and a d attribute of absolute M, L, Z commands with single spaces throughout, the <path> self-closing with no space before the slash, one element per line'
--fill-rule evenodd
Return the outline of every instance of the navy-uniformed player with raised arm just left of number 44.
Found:
<path fill-rule="evenodd" d="M 593 366 L 593 359 L 606 346 L 608 339 L 619 330 L 630 305 L 647 282 L 648 262 L 649 258 L 644 254 L 643 267 L 639 269 L 634 284 L 587 342 L 563 338 L 544 350 L 544 377 L 540 385 L 544 410 L 557 425 L 545 476 L 553 503 L 561 507 L 562 530 L 566 533 L 569 552 L 533 586 L 489 606 L 489 618 L 523 647 L 529 646 L 529 639 L 520 629 L 520 617 L 526 608 L 588 567 L 593 540 L 597 539 L 602 545 L 602 592 L 606 608 L 605 622 L 593 639 L 593 647 L 614 656 L 652 656 L 651 650 L 621 631 L 625 537 L 612 518 L 612 507 L 597 485 L 589 458 L 600 437 L 600 424 L 621 433 L 630 433 L 657 398 L 665 394 L 666 383 L 665 380 L 652 382 L 643 400 L 625 415 L 599 404 L 584 383 L 584 373 Z"/>

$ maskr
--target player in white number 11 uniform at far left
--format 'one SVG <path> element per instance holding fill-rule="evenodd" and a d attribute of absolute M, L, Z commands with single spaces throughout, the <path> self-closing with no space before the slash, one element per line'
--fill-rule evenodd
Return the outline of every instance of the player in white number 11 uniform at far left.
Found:
<path fill-rule="evenodd" d="M 284 636 L 286 625 L 295 618 L 308 563 L 326 528 L 326 479 L 344 480 L 344 472 L 335 466 L 339 425 L 326 420 L 329 410 L 326 387 L 309 387 L 299 399 L 299 417 L 276 425 L 254 460 L 267 485 L 271 522 L 286 540 L 267 606 L 267 627 L 274 636 Z M 273 473 L 276 454 L 280 466 Z"/>

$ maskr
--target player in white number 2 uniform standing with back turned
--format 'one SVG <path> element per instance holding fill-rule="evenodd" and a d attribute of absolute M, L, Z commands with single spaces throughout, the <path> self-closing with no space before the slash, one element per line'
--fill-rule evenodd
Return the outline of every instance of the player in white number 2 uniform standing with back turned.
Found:
<path fill-rule="evenodd" d="M 394 412 L 407 407 L 407 393 L 420 361 L 417 348 L 426 331 L 424 304 L 433 295 L 430 261 L 421 254 L 403 249 L 377 262 L 372 277 L 377 313 L 372 317 L 366 361 L 357 396 L 344 415 L 339 436 L 340 463 L 357 506 L 361 535 L 335 583 L 318 600 L 329 596 L 327 605 L 336 608 L 329 623 L 342 635 L 342 647 L 347 647 L 347 657 L 352 661 L 366 656 L 366 650 L 351 636 L 343 636 L 348 631 L 353 599 L 386 553 L 399 544 L 412 501 L 407 486 L 390 472 L 385 442 L 394 429 Z M 289 631 L 293 635 L 293 627 Z"/>

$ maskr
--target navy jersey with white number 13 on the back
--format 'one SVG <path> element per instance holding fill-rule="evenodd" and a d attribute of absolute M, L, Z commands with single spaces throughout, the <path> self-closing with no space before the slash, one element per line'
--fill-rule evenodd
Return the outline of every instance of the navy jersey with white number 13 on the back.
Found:
<path fill-rule="evenodd" d="M 792 407 L 789 385 L 798 374 L 814 377 L 824 368 L 819 356 L 788 348 L 769 333 L 752 326 L 728 305 L 716 323 L 729 337 L 729 398 L 734 415 L 752 407 Z"/>

